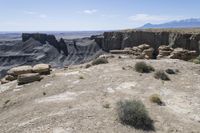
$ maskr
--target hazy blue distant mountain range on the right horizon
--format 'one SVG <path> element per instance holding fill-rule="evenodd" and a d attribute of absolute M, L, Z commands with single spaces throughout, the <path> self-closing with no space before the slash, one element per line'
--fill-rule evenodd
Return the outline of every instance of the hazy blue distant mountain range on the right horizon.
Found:
<path fill-rule="evenodd" d="M 180 21 L 171 21 L 163 24 L 151 24 L 147 23 L 144 26 L 140 27 L 142 29 L 148 28 L 194 28 L 200 27 L 200 18 L 199 19 L 185 19 Z"/>

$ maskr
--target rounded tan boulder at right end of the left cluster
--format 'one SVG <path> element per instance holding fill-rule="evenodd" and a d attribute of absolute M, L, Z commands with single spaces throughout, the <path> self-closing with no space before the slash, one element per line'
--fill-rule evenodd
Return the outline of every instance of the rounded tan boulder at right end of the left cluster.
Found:
<path fill-rule="evenodd" d="M 50 74 L 51 66 L 49 64 L 38 64 L 33 67 L 33 72 L 39 74 Z"/>

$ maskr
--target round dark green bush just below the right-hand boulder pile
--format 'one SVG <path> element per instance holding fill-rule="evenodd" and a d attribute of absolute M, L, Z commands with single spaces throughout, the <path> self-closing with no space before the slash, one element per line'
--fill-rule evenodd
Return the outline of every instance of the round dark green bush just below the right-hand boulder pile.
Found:
<path fill-rule="evenodd" d="M 150 73 L 152 71 L 155 71 L 155 69 L 147 65 L 145 62 L 138 62 L 135 64 L 135 70 L 139 73 Z"/>

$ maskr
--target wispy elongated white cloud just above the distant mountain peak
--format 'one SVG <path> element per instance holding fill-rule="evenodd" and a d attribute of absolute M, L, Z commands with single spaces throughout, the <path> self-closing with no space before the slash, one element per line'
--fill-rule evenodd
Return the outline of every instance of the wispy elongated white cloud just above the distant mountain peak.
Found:
<path fill-rule="evenodd" d="M 129 17 L 129 20 L 135 22 L 135 23 L 163 23 L 167 21 L 173 21 L 173 20 L 180 20 L 184 19 L 183 16 L 160 16 L 160 15 L 149 15 L 149 14 L 136 14 Z"/>

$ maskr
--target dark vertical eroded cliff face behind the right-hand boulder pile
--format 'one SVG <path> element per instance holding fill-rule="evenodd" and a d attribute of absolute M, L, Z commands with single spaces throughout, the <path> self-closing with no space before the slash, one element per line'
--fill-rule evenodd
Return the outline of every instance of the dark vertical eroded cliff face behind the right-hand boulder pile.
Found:
<path fill-rule="evenodd" d="M 98 42 L 99 38 L 98 38 Z M 200 53 L 200 32 L 182 33 L 172 31 L 116 31 L 105 32 L 100 46 L 105 51 L 124 49 L 147 43 L 154 49 L 161 45 L 169 45 L 173 48 L 181 47 L 188 50 L 196 50 Z"/>

